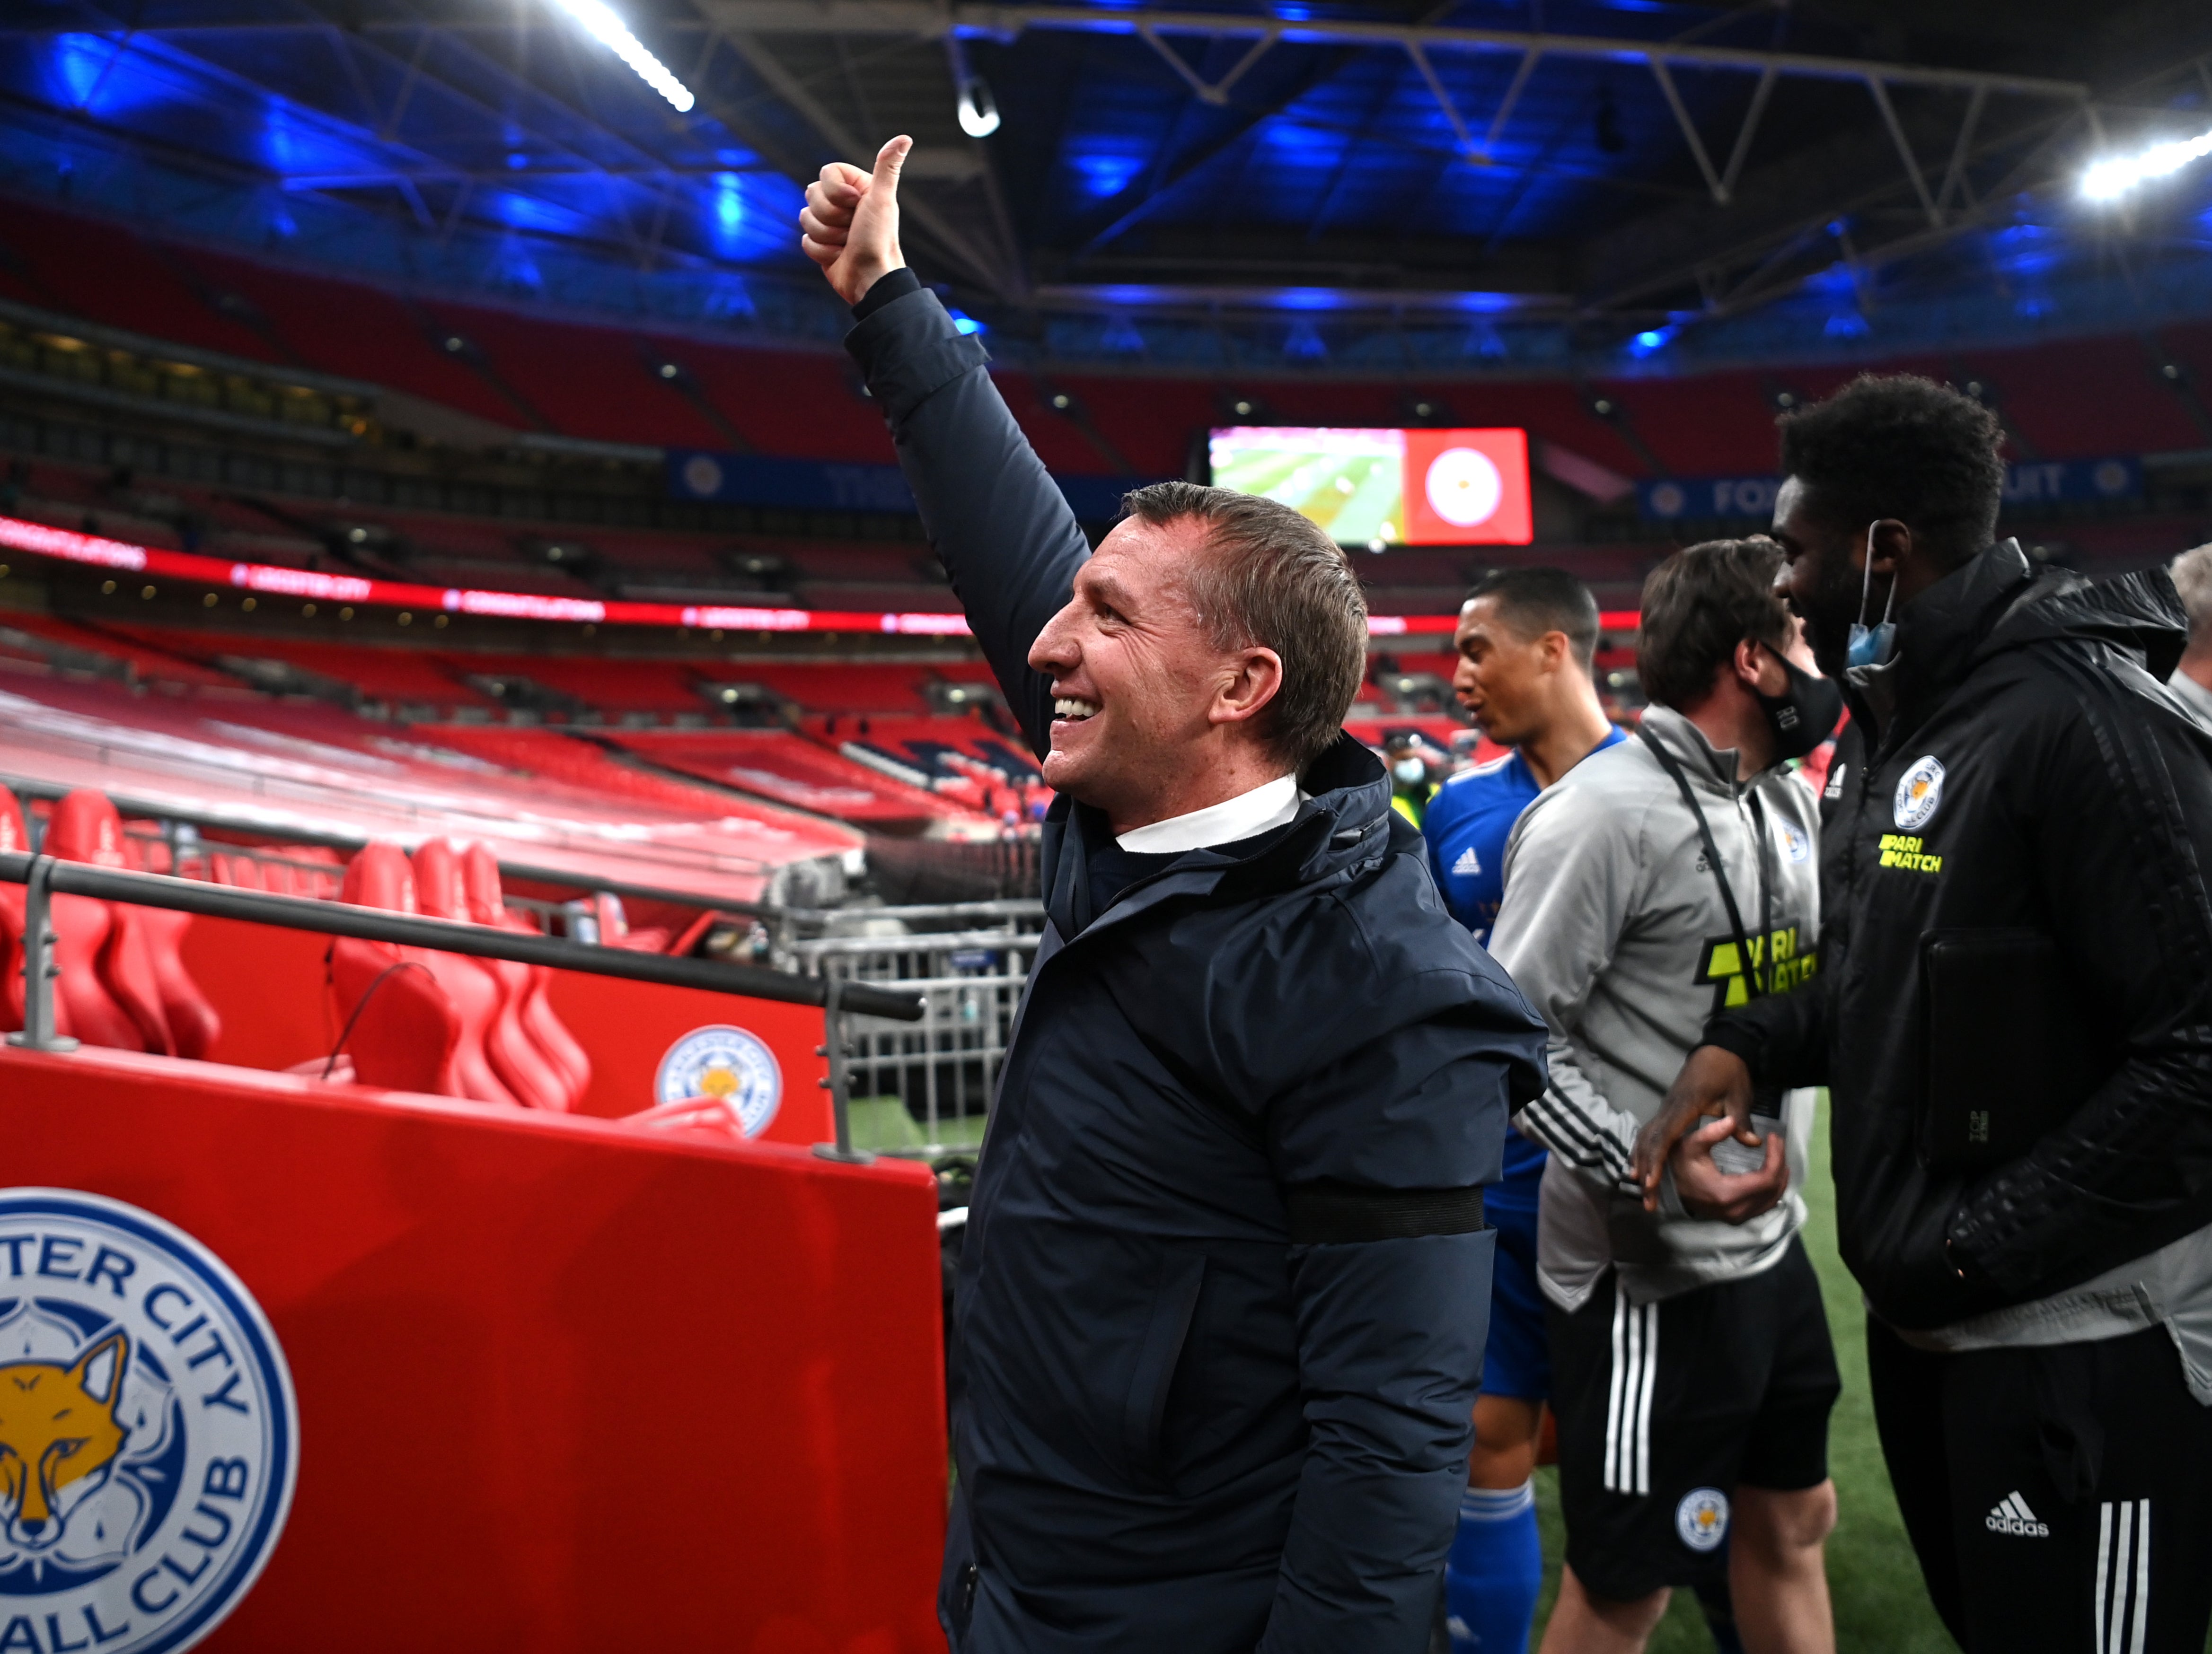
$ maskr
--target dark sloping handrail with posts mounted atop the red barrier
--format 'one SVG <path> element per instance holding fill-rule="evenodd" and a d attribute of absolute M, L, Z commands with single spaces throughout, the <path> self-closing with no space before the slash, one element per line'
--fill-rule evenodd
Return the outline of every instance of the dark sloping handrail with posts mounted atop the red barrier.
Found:
<path fill-rule="evenodd" d="M 398 942 L 436 953 L 467 953 L 478 960 L 518 960 L 522 964 L 544 964 L 555 971 L 661 982 L 677 988 L 708 988 L 750 999 L 774 999 L 779 1004 L 821 1006 L 821 1055 L 830 1059 L 827 1086 L 836 1119 L 836 1141 L 816 1143 L 814 1152 L 838 1161 L 869 1159 L 854 1150 L 847 1114 L 854 1022 L 858 1017 L 865 1017 L 869 1024 L 922 1022 L 927 1017 L 927 999 L 918 993 L 902 993 L 876 982 L 856 982 L 836 973 L 792 975 L 787 971 L 723 964 L 719 960 L 672 960 L 666 953 L 602 949 L 584 942 L 562 942 L 551 935 L 495 931 L 484 924 L 429 920 L 418 913 L 392 913 L 378 907 L 325 902 L 312 896 L 272 896 L 270 891 L 208 884 L 166 873 L 131 873 L 115 867 L 64 862 L 53 856 L 31 856 L 24 851 L 0 851 L 0 882 L 24 887 L 22 1033 L 11 1033 L 9 1044 L 27 1050 L 75 1050 L 77 1046 L 75 1039 L 55 1030 L 53 1019 L 53 980 L 60 975 L 53 957 L 53 893 L 91 896 L 102 902 L 161 907 L 177 913 L 204 913 L 223 920 L 248 920 L 252 924 L 276 924 L 321 935 L 354 935 L 367 942 Z"/>

